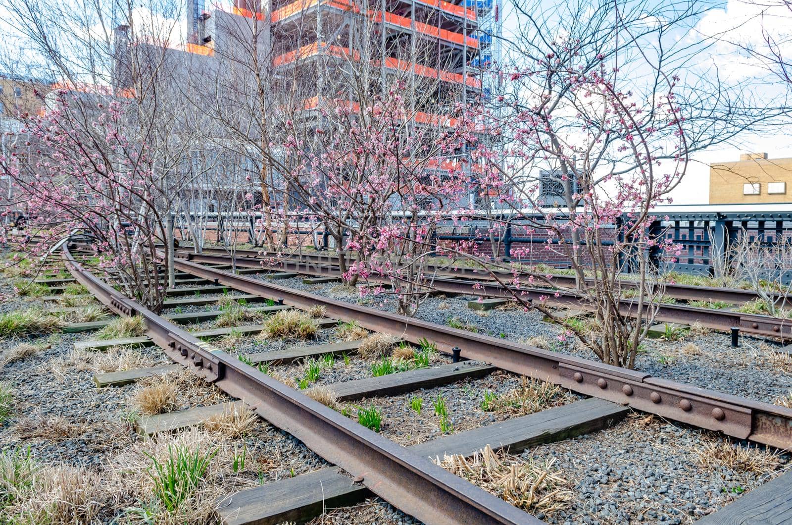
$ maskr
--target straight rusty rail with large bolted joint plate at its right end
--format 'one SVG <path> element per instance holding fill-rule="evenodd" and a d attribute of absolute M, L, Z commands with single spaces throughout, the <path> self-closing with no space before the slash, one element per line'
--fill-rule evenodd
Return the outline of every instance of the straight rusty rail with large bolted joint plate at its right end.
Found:
<path fill-rule="evenodd" d="M 750 439 L 756 443 L 792 450 L 790 408 L 699 389 L 652 377 L 637 370 L 608 366 L 588 359 L 337 301 L 217 270 L 187 259 L 186 255 L 180 255 L 176 259 L 178 270 L 246 293 L 278 297 L 297 308 L 323 305 L 326 307 L 326 315 L 339 320 L 357 321 L 372 331 L 390 333 L 413 343 L 426 338 L 435 341 L 440 351 L 446 353 L 451 353 L 454 347 L 458 347 L 463 358 L 489 362 L 503 370 L 550 381 L 588 396 L 628 404 L 638 410 L 696 427 L 722 431 L 738 439 Z"/>

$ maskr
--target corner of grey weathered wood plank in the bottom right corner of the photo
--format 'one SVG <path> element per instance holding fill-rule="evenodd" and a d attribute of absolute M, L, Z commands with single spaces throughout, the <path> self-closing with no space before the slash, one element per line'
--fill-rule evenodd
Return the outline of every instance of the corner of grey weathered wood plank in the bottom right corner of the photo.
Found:
<path fill-rule="evenodd" d="M 792 523 L 792 472 L 743 494 L 696 523 L 709 525 L 781 525 Z"/>

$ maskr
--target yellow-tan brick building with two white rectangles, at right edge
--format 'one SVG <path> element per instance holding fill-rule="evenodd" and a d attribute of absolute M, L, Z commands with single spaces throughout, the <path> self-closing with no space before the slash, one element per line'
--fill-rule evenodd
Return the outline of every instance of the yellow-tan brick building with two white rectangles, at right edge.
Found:
<path fill-rule="evenodd" d="M 746 153 L 710 164 L 710 204 L 792 203 L 792 158 Z"/>

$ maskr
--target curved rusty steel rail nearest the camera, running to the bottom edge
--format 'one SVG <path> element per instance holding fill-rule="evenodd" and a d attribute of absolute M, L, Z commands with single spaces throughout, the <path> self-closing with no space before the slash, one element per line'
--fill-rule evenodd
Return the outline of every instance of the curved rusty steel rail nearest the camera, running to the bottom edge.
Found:
<path fill-rule="evenodd" d="M 63 247 L 63 259 L 74 278 L 112 311 L 143 316 L 147 334 L 173 361 L 231 397 L 244 400 L 258 416 L 362 479 L 367 489 L 407 514 L 426 523 L 449 525 L 542 523 L 124 297 L 86 271 L 67 246 Z"/>

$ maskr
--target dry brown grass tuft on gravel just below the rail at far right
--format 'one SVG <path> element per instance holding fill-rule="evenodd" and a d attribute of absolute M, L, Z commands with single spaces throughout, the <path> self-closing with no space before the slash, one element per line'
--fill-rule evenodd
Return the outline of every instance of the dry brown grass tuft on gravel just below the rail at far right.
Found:
<path fill-rule="evenodd" d="M 741 446 L 725 439 L 712 439 L 694 450 L 699 465 L 706 470 L 725 467 L 736 473 L 767 475 L 782 465 L 781 455 L 760 449 L 759 446 Z"/>

